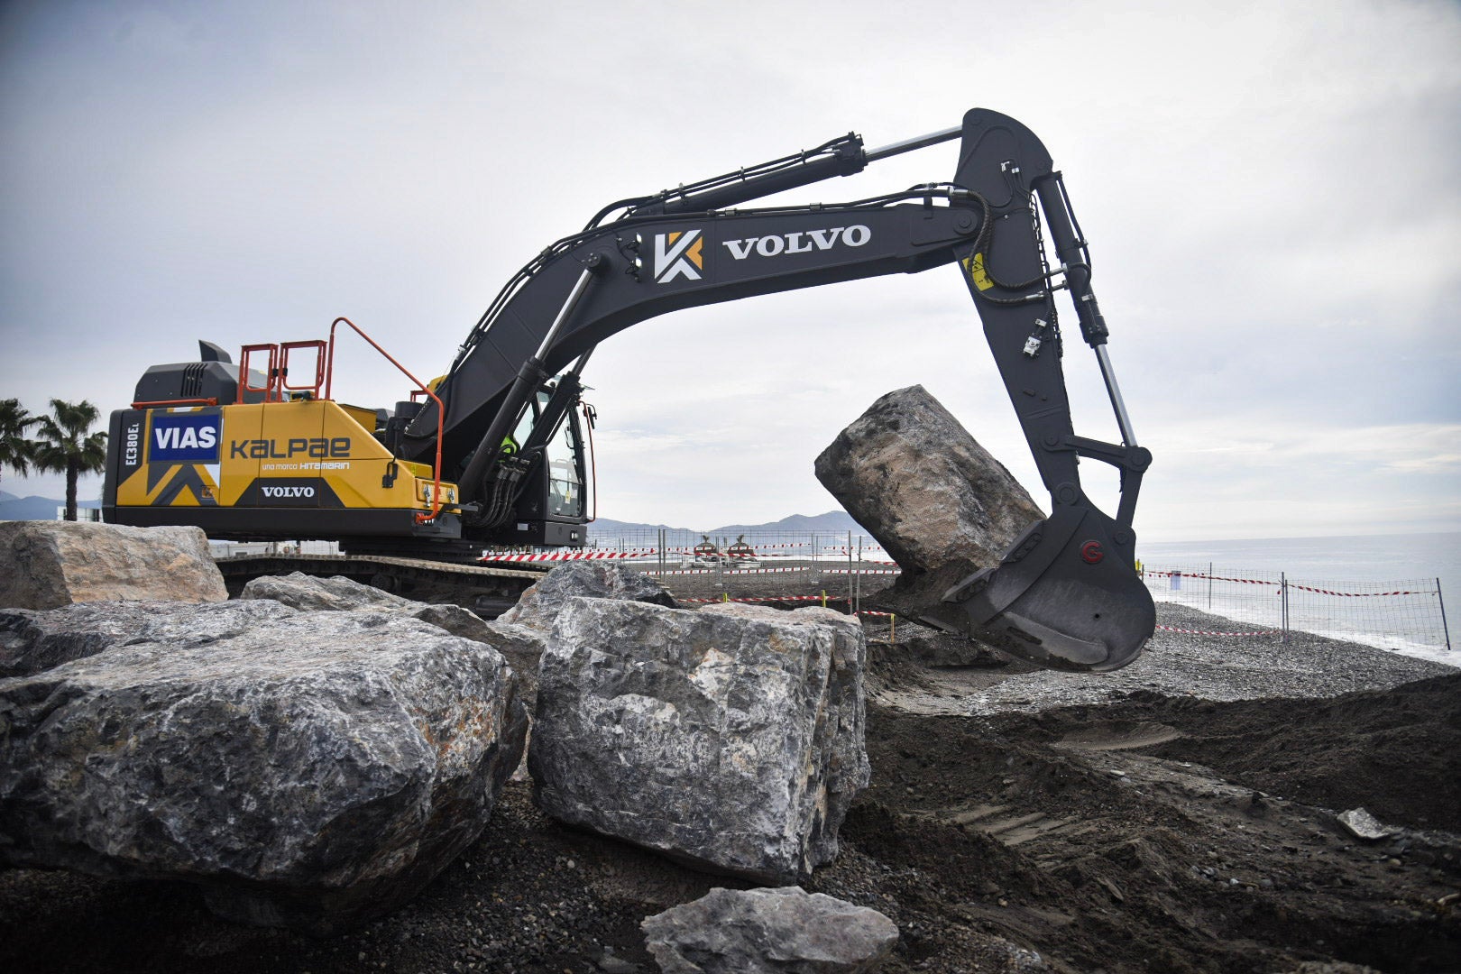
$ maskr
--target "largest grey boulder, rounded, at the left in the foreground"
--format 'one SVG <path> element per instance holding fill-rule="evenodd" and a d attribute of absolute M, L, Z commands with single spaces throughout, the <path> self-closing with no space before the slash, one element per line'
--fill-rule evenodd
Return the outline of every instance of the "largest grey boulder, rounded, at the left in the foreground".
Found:
<path fill-rule="evenodd" d="M 188 881 L 323 935 L 481 834 L 526 732 L 501 654 L 384 613 L 194 612 L 0 682 L 0 862 Z"/>

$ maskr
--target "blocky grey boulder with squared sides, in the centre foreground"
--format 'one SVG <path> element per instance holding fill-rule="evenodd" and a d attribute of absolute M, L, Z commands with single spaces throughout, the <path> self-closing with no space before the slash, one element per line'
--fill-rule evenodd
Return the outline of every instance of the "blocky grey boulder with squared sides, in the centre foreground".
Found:
<path fill-rule="evenodd" d="M 863 656 L 827 609 L 570 599 L 539 669 L 538 802 L 700 869 L 809 873 L 868 783 Z"/>

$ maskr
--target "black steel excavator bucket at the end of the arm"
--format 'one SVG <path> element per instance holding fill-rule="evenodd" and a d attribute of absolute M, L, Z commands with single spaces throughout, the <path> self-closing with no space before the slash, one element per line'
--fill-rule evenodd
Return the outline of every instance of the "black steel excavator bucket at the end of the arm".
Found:
<path fill-rule="evenodd" d="M 954 586 L 929 621 L 1050 669 L 1119 669 L 1157 622 L 1134 542 L 1094 507 L 1062 507 L 1026 529 L 999 565 Z"/>

